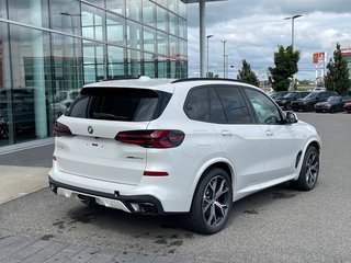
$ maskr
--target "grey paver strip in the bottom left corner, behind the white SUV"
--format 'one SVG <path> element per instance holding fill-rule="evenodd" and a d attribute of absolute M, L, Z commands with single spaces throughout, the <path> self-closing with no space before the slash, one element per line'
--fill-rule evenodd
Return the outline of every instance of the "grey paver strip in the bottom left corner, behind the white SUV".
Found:
<path fill-rule="evenodd" d="M 1 237 L 0 263 L 192 263 L 191 259 L 134 253 L 126 251 L 103 251 L 97 248 L 50 241 L 53 237 Z"/>

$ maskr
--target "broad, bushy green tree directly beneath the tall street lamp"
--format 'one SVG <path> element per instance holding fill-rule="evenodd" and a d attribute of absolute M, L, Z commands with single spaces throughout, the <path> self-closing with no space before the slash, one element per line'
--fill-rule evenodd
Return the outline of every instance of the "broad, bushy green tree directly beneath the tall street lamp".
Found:
<path fill-rule="evenodd" d="M 269 68 L 271 72 L 270 82 L 276 91 L 286 91 L 291 84 L 293 76 L 298 71 L 297 62 L 299 60 L 299 50 L 293 50 L 292 46 L 286 49 L 279 46 L 274 53 L 274 68 Z"/>

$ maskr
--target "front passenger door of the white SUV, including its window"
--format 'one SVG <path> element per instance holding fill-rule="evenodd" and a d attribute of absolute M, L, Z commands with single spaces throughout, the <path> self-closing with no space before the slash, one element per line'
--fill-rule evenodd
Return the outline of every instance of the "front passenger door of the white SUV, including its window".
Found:
<path fill-rule="evenodd" d="M 253 89 L 245 91 L 264 135 L 265 151 L 262 158 L 265 173 L 262 182 L 293 174 L 302 150 L 303 133 L 298 133 L 296 124 L 284 123 L 283 113 L 265 94 Z"/>

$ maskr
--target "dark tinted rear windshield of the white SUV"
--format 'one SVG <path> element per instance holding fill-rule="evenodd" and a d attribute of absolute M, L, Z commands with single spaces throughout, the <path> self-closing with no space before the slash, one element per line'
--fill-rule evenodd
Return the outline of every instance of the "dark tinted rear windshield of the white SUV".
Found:
<path fill-rule="evenodd" d="M 147 122 L 158 118 L 171 93 L 124 88 L 88 88 L 65 113 L 78 118 Z"/>

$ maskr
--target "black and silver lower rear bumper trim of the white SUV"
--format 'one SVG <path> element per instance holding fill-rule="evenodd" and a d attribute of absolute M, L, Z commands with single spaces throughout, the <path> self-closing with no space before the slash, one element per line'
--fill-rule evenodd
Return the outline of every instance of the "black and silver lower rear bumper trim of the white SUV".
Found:
<path fill-rule="evenodd" d="M 103 193 L 72 185 L 59 183 L 48 176 L 52 191 L 64 197 L 78 198 L 124 210 L 126 213 L 165 215 L 161 202 L 151 195 L 123 196 L 116 191 L 114 194 Z"/>

